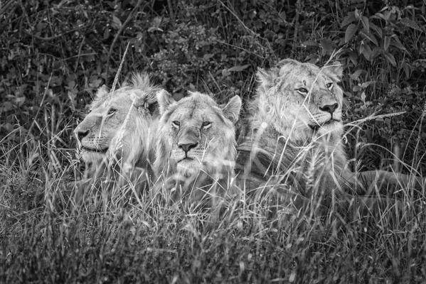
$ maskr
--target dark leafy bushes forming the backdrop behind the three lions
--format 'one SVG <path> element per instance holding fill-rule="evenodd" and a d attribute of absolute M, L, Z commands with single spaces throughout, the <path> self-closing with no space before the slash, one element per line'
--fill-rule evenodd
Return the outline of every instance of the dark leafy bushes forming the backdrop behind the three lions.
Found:
<path fill-rule="evenodd" d="M 75 119 L 97 87 L 112 85 L 129 43 L 119 82 L 143 70 L 176 97 L 198 89 L 222 102 L 234 94 L 247 102 L 257 67 L 282 58 L 322 65 L 336 50 L 346 122 L 406 111 L 351 131 L 350 157 L 378 168 L 390 153 L 363 144 L 398 146 L 407 163 L 417 138 L 425 148 L 417 124 L 425 104 L 424 1 L 20 0 L 2 1 L 0 14 L 1 136 L 22 126 L 43 139 L 33 119 L 58 111 L 55 127 L 66 129 L 56 146 L 70 148 Z"/>

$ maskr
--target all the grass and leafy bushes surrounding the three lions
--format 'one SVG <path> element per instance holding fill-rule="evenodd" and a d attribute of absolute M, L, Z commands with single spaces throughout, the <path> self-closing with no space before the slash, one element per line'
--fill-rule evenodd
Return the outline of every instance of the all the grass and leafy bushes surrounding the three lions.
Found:
<path fill-rule="evenodd" d="M 135 205 L 89 192 L 80 204 L 65 184 L 78 175 L 72 131 L 95 89 L 112 84 L 127 43 L 119 82 L 144 70 L 176 97 L 198 89 L 221 102 L 247 102 L 257 67 L 279 59 L 339 60 L 354 165 L 385 168 L 396 154 L 399 170 L 425 173 L 425 9 L 379 0 L 2 1 L 0 281 L 420 282 L 426 217 L 415 207 L 425 190 L 404 192 L 401 219 L 389 204 L 344 226 L 299 220 L 283 229 L 241 204 L 213 224 L 149 197 Z"/>

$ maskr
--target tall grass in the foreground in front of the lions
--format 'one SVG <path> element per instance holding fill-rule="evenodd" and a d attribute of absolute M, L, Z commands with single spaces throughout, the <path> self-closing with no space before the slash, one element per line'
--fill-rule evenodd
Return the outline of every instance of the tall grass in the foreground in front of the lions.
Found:
<path fill-rule="evenodd" d="M 47 111 L 46 111 L 47 113 Z M 0 143 L 0 280 L 4 283 L 420 283 L 425 187 L 370 211 L 356 198 L 329 218 L 288 214 L 273 195 L 228 198 L 214 218 L 193 200 L 129 184 L 78 186 L 73 149 Z M 46 141 L 45 143 L 41 141 Z M 61 160 L 61 163 L 58 163 Z M 60 166 L 58 166 L 60 165 Z M 414 171 L 413 171 L 414 173 Z"/>

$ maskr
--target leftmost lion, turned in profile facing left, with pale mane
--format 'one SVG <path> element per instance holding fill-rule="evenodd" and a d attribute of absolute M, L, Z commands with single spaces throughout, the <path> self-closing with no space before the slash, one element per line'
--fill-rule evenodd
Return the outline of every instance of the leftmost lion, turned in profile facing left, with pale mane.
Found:
<path fill-rule="evenodd" d="M 97 90 L 89 114 L 74 130 L 89 177 L 129 178 L 135 169 L 142 178 L 152 175 L 159 93 L 166 91 L 144 73 L 115 92 L 105 85 Z"/>

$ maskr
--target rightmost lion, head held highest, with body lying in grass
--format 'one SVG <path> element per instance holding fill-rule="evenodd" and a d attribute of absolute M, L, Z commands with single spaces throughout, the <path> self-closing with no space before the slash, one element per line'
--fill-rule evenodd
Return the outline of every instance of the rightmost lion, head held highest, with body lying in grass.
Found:
<path fill-rule="evenodd" d="M 259 84 L 250 106 L 252 135 L 237 148 L 235 170 L 245 187 L 284 184 L 294 200 L 316 195 L 328 204 L 336 194 L 358 189 L 360 181 L 363 193 L 375 179 L 385 185 L 412 181 L 410 176 L 383 170 L 348 169 L 342 143 L 342 74 L 339 62 L 320 68 L 292 59 L 258 70 Z"/>

